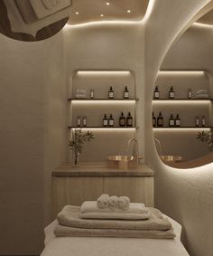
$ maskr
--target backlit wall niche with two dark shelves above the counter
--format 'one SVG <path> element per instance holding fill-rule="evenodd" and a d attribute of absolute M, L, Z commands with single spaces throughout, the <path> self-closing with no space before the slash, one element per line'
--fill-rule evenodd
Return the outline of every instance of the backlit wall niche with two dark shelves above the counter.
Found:
<path fill-rule="evenodd" d="M 125 86 L 129 92 L 124 99 Z M 108 99 L 110 87 L 114 90 L 114 98 Z M 93 92 L 91 99 L 90 91 Z M 83 93 L 82 95 L 78 95 Z M 130 138 L 136 136 L 136 105 L 135 81 L 132 71 L 76 71 L 70 78 L 69 92 L 69 129 L 81 128 L 90 130 L 95 139 L 87 144 L 81 157 L 83 162 L 101 162 L 108 155 L 125 155 L 126 145 Z M 125 118 L 131 113 L 133 124 L 119 126 L 121 112 Z M 114 119 L 113 126 L 103 127 L 103 118 Z M 80 121 L 78 122 L 78 117 Z M 83 123 L 86 117 L 86 126 Z M 94 154 L 94 152 L 97 152 Z"/>

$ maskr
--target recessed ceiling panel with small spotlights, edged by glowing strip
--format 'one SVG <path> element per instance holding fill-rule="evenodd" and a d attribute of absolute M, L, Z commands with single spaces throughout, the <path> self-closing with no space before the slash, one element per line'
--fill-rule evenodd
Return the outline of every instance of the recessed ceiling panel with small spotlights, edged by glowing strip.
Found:
<path fill-rule="evenodd" d="M 73 0 L 68 24 L 140 21 L 149 0 Z"/>

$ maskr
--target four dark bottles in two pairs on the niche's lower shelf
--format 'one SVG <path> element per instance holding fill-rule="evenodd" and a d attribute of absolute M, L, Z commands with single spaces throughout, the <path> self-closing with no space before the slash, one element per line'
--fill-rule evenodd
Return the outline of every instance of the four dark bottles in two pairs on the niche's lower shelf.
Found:
<path fill-rule="evenodd" d="M 114 127 L 114 118 L 113 115 L 110 114 L 109 119 L 106 114 L 103 118 L 103 127 Z M 128 112 L 127 117 L 125 118 L 124 112 L 121 112 L 121 116 L 119 118 L 119 127 L 132 127 L 133 126 L 133 117 L 130 112 Z"/>

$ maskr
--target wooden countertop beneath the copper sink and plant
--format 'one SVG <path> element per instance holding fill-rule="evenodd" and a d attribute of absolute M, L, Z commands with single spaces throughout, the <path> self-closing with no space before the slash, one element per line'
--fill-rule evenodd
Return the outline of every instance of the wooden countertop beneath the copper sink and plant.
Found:
<path fill-rule="evenodd" d="M 52 172 L 54 177 L 149 177 L 153 175 L 153 169 L 144 164 L 128 170 L 108 168 L 103 163 L 84 163 L 79 166 L 64 164 Z"/>

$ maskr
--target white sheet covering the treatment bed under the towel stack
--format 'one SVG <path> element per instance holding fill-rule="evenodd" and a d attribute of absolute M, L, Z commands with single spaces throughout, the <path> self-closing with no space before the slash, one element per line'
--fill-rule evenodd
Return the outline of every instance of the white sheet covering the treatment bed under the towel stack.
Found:
<path fill-rule="evenodd" d="M 175 239 L 106 237 L 58 237 L 57 221 L 44 230 L 45 248 L 41 256 L 189 256 L 181 243 L 181 225 L 166 216 L 176 233 Z"/>

